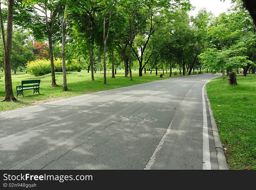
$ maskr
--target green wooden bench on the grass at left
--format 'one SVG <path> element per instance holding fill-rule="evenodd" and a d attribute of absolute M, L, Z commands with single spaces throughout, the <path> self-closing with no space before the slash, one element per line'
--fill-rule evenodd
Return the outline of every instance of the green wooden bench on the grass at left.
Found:
<path fill-rule="evenodd" d="M 38 92 L 40 94 L 39 92 L 40 81 L 41 80 L 22 80 L 21 85 L 16 86 L 17 97 L 18 95 L 23 95 L 24 97 L 23 91 L 26 91 L 26 90 L 34 90 L 34 93 Z"/>

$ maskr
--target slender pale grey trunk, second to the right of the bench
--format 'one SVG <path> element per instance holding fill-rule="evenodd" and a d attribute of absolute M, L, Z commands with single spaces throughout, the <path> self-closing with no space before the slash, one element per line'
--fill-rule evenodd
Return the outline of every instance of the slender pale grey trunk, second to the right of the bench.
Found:
<path fill-rule="evenodd" d="M 63 73 L 63 91 L 67 91 L 67 72 L 66 72 L 66 53 L 65 53 L 65 43 L 66 43 L 66 18 L 67 18 L 67 5 L 65 6 L 64 17 L 62 22 L 62 73 Z"/>

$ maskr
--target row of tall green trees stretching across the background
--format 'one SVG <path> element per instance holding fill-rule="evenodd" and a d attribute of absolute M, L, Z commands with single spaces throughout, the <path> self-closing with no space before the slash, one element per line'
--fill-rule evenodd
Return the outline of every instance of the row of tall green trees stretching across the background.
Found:
<path fill-rule="evenodd" d="M 93 71 L 101 67 L 99 62 L 103 59 L 104 84 L 107 59 L 112 63 L 112 78 L 115 78 L 114 68 L 123 64 L 125 77 L 129 75 L 130 80 L 133 64 L 138 65 L 139 76 L 143 76 L 143 70 L 153 68 L 170 68 L 171 76 L 173 67 L 178 67 L 180 74 L 188 72 L 190 75 L 195 66 L 201 69 L 203 65 L 223 72 L 223 76 L 225 70 L 228 73 L 239 67 L 243 67 L 245 74 L 247 70 L 255 71 L 255 25 L 243 3 L 245 1 L 238 0 L 232 13 L 215 18 L 204 9 L 197 16 L 189 17 L 189 0 L 8 0 L 8 10 L 3 11 L 3 15 L 0 9 L 6 47 L 5 101 L 15 100 L 10 60 L 12 64 L 16 59 L 19 59 L 17 64 L 25 64 L 24 60 L 30 61 L 36 55 L 31 53 L 35 48 L 31 48 L 29 41 L 16 39 L 25 34 L 36 41 L 46 41 L 53 87 L 57 86 L 54 49 L 55 56 L 62 57 L 64 91 L 68 90 L 65 59 L 84 60 L 88 72 L 91 70 L 92 81 Z M 13 34 L 12 23 L 16 28 Z M 4 26 L 7 27 L 6 38 Z M 20 30 L 29 33 L 18 32 Z M 17 47 L 12 48 L 13 53 L 10 51 L 12 41 L 13 47 Z M 16 41 L 19 45 L 15 45 Z M 15 58 L 19 50 L 22 56 Z M 44 53 L 47 56 L 46 50 Z"/>

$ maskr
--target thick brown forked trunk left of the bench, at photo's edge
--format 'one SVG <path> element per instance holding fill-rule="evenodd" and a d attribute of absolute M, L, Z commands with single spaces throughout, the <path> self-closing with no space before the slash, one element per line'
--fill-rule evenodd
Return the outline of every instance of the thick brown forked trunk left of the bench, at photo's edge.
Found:
<path fill-rule="evenodd" d="M 1 29 L 4 45 L 4 82 L 5 82 L 5 99 L 3 101 L 13 102 L 17 100 L 13 95 L 13 85 L 11 76 L 11 47 L 13 35 L 13 0 L 8 0 L 7 30 L 6 39 L 4 34 L 3 16 L 0 3 Z"/>

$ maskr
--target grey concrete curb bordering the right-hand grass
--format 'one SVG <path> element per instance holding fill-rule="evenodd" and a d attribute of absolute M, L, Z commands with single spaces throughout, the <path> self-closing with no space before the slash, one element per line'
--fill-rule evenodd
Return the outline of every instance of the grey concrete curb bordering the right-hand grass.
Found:
<path fill-rule="evenodd" d="M 207 104 L 208 104 L 208 109 L 209 109 L 209 114 L 210 114 L 211 129 L 212 129 L 212 133 L 213 133 L 213 137 L 214 137 L 214 144 L 215 144 L 215 148 L 217 151 L 218 167 L 220 170 L 229 170 L 227 161 L 226 161 L 226 157 L 224 154 L 224 149 L 221 144 L 221 139 L 220 139 L 220 136 L 218 133 L 218 128 L 217 128 L 217 125 L 216 125 L 216 122 L 214 120 L 214 116 L 213 116 L 213 113 L 211 110 L 210 101 L 207 97 L 207 93 L 205 93 L 205 94 L 206 94 Z"/>

